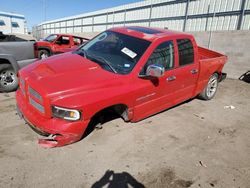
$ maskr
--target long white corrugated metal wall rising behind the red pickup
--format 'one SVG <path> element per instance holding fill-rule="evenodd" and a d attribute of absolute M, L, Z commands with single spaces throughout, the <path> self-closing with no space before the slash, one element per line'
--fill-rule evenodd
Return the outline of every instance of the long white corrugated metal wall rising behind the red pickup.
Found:
<path fill-rule="evenodd" d="M 100 32 L 129 25 L 178 31 L 249 30 L 250 0 L 148 0 L 41 23 L 37 38 L 51 33 Z"/>

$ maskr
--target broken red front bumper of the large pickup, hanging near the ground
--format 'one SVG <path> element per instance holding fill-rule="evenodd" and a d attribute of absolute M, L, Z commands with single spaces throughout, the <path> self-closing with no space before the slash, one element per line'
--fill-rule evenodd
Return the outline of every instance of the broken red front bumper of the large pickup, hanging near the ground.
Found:
<path fill-rule="evenodd" d="M 79 141 L 89 120 L 65 121 L 58 118 L 45 118 L 25 102 L 20 90 L 16 91 L 17 112 L 21 118 L 38 134 L 48 136 L 39 139 L 43 147 L 60 147 Z"/>

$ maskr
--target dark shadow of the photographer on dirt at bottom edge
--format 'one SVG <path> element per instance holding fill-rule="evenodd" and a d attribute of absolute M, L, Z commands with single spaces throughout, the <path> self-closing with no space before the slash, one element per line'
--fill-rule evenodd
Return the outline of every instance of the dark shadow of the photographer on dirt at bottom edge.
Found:
<path fill-rule="evenodd" d="M 142 183 L 138 182 L 129 173 L 127 172 L 115 173 L 113 170 L 107 170 L 105 174 L 91 186 L 91 188 L 103 188 L 103 187 L 145 188 L 145 186 Z"/>

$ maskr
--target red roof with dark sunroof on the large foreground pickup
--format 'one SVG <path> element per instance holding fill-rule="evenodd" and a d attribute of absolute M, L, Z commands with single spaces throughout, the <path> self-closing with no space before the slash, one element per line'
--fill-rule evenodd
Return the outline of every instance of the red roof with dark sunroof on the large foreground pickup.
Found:
<path fill-rule="evenodd" d="M 110 29 L 111 31 L 123 33 L 137 38 L 142 38 L 148 41 L 154 41 L 156 39 L 166 36 L 191 36 L 183 32 L 172 31 L 168 29 L 160 29 L 153 27 L 141 27 L 141 26 L 127 26 L 127 27 L 115 27 Z"/>

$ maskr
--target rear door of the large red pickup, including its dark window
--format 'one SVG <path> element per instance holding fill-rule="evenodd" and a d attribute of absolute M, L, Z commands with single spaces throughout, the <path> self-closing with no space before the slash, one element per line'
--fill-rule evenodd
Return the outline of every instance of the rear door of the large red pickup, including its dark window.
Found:
<path fill-rule="evenodd" d="M 176 93 L 175 103 L 178 104 L 194 97 L 197 85 L 199 62 L 197 46 L 192 38 L 179 38 L 176 40 L 178 52 L 178 66 L 175 69 Z"/>

